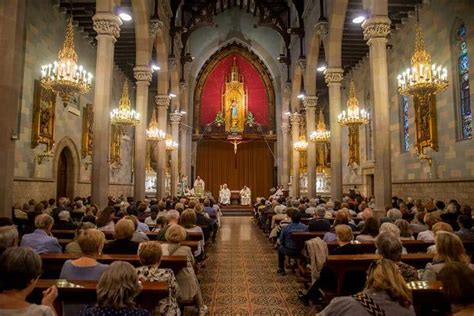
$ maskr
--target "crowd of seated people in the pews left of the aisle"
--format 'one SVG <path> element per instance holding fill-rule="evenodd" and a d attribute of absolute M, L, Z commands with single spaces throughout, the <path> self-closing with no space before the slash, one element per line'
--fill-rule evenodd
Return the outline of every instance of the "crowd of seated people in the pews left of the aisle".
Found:
<path fill-rule="evenodd" d="M 198 272 L 208 258 L 206 247 L 216 242 L 220 215 L 212 198 L 110 197 L 102 210 L 79 197 L 17 203 L 11 220 L 0 219 L 0 315 L 56 315 L 56 286 L 43 292 L 40 304 L 27 297 L 45 268 L 42 256 L 61 253 L 72 257 L 64 261 L 60 279 L 97 282 L 97 303 L 75 306 L 82 315 L 181 315 L 184 306 L 205 315 Z M 189 234 L 201 236 L 193 250 L 182 245 Z M 65 235 L 70 239 L 57 237 Z M 103 255 L 135 255 L 141 266 L 101 263 Z M 186 263 L 178 271 L 161 268 L 163 256 L 181 256 Z M 135 303 L 140 281 L 167 284 L 168 295 L 157 299 L 152 311 Z"/>

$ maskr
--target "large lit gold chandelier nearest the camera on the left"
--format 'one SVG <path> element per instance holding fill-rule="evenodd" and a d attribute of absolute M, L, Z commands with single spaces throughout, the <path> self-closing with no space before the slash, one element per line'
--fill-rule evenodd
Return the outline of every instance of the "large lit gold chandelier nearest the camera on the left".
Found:
<path fill-rule="evenodd" d="M 41 85 L 45 89 L 58 93 L 64 106 L 67 106 L 74 95 L 85 94 L 92 87 L 92 74 L 81 65 L 77 65 L 72 17 L 67 22 L 66 35 L 63 48 L 58 53 L 58 61 L 41 66 Z"/>

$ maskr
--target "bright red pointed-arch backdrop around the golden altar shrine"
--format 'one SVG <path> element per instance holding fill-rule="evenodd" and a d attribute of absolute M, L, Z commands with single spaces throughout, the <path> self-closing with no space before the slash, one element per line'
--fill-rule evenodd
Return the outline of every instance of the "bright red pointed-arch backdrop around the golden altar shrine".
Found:
<path fill-rule="evenodd" d="M 268 125 L 268 96 L 263 80 L 255 67 L 243 56 L 230 54 L 216 64 L 204 83 L 201 95 L 201 124 L 212 123 L 221 109 L 225 75 L 230 72 L 234 57 L 248 91 L 248 109 L 255 120 Z"/>

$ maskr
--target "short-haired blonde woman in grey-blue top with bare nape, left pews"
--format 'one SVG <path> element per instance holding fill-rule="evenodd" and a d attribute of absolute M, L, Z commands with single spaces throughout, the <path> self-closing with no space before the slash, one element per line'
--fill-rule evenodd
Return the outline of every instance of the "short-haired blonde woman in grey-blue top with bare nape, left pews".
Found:
<path fill-rule="evenodd" d="M 97 262 L 105 243 L 105 235 L 98 229 L 84 230 L 77 242 L 82 250 L 82 256 L 75 260 L 66 260 L 61 269 L 60 279 L 98 281 L 108 267 Z"/>

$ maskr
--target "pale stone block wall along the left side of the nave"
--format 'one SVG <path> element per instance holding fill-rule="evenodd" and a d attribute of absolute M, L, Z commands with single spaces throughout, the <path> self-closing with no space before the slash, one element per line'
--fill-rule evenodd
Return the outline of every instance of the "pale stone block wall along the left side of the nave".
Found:
<path fill-rule="evenodd" d="M 27 0 L 26 6 L 26 38 L 24 51 L 24 76 L 21 101 L 21 117 L 19 124 L 19 140 L 16 143 L 15 153 L 15 183 L 14 201 L 23 202 L 30 198 L 45 199 L 56 195 L 56 171 L 60 152 L 54 152 L 50 161 L 38 164 L 35 155 L 45 150 L 45 145 L 36 148 L 31 146 L 34 82 L 40 79 L 41 65 L 51 63 L 57 59 L 58 51 L 64 41 L 66 16 L 60 13 L 54 1 Z M 79 65 L 95 76 L 96 50 L 90 45 L 84 34 L 75 29 L 75 49 L 79 58 Z M 118 68 L 114 71 L 112 92 L 112 109 L 117 107 L 121 96 L 125 76 Z M 135 101 L 135 89 L 130 87 L 132 104 Z M 67 141 L 67 147 L 73 154 L 75 177 L 74 195 L 90 195 L 90 166 L 81 158 L 82 114 L 86 104 L 93 104 L 94 89 L 88 94 L 75 98 L 68 107 L 63 106 L 58 97 L 56 101 L 55 148 L 62 148 Z M 108 127 L 104 127 L 108 128 Z M 54 150 L 54 149 L 53 149 Z M 122 168 L 110 171 L 110 182 L 113 184 L 110 193 L 113 195 L 131 194 L 132 186 L 132 151 L 133 134 L 131 131 L 124 135 L 121 145 Z"/>

